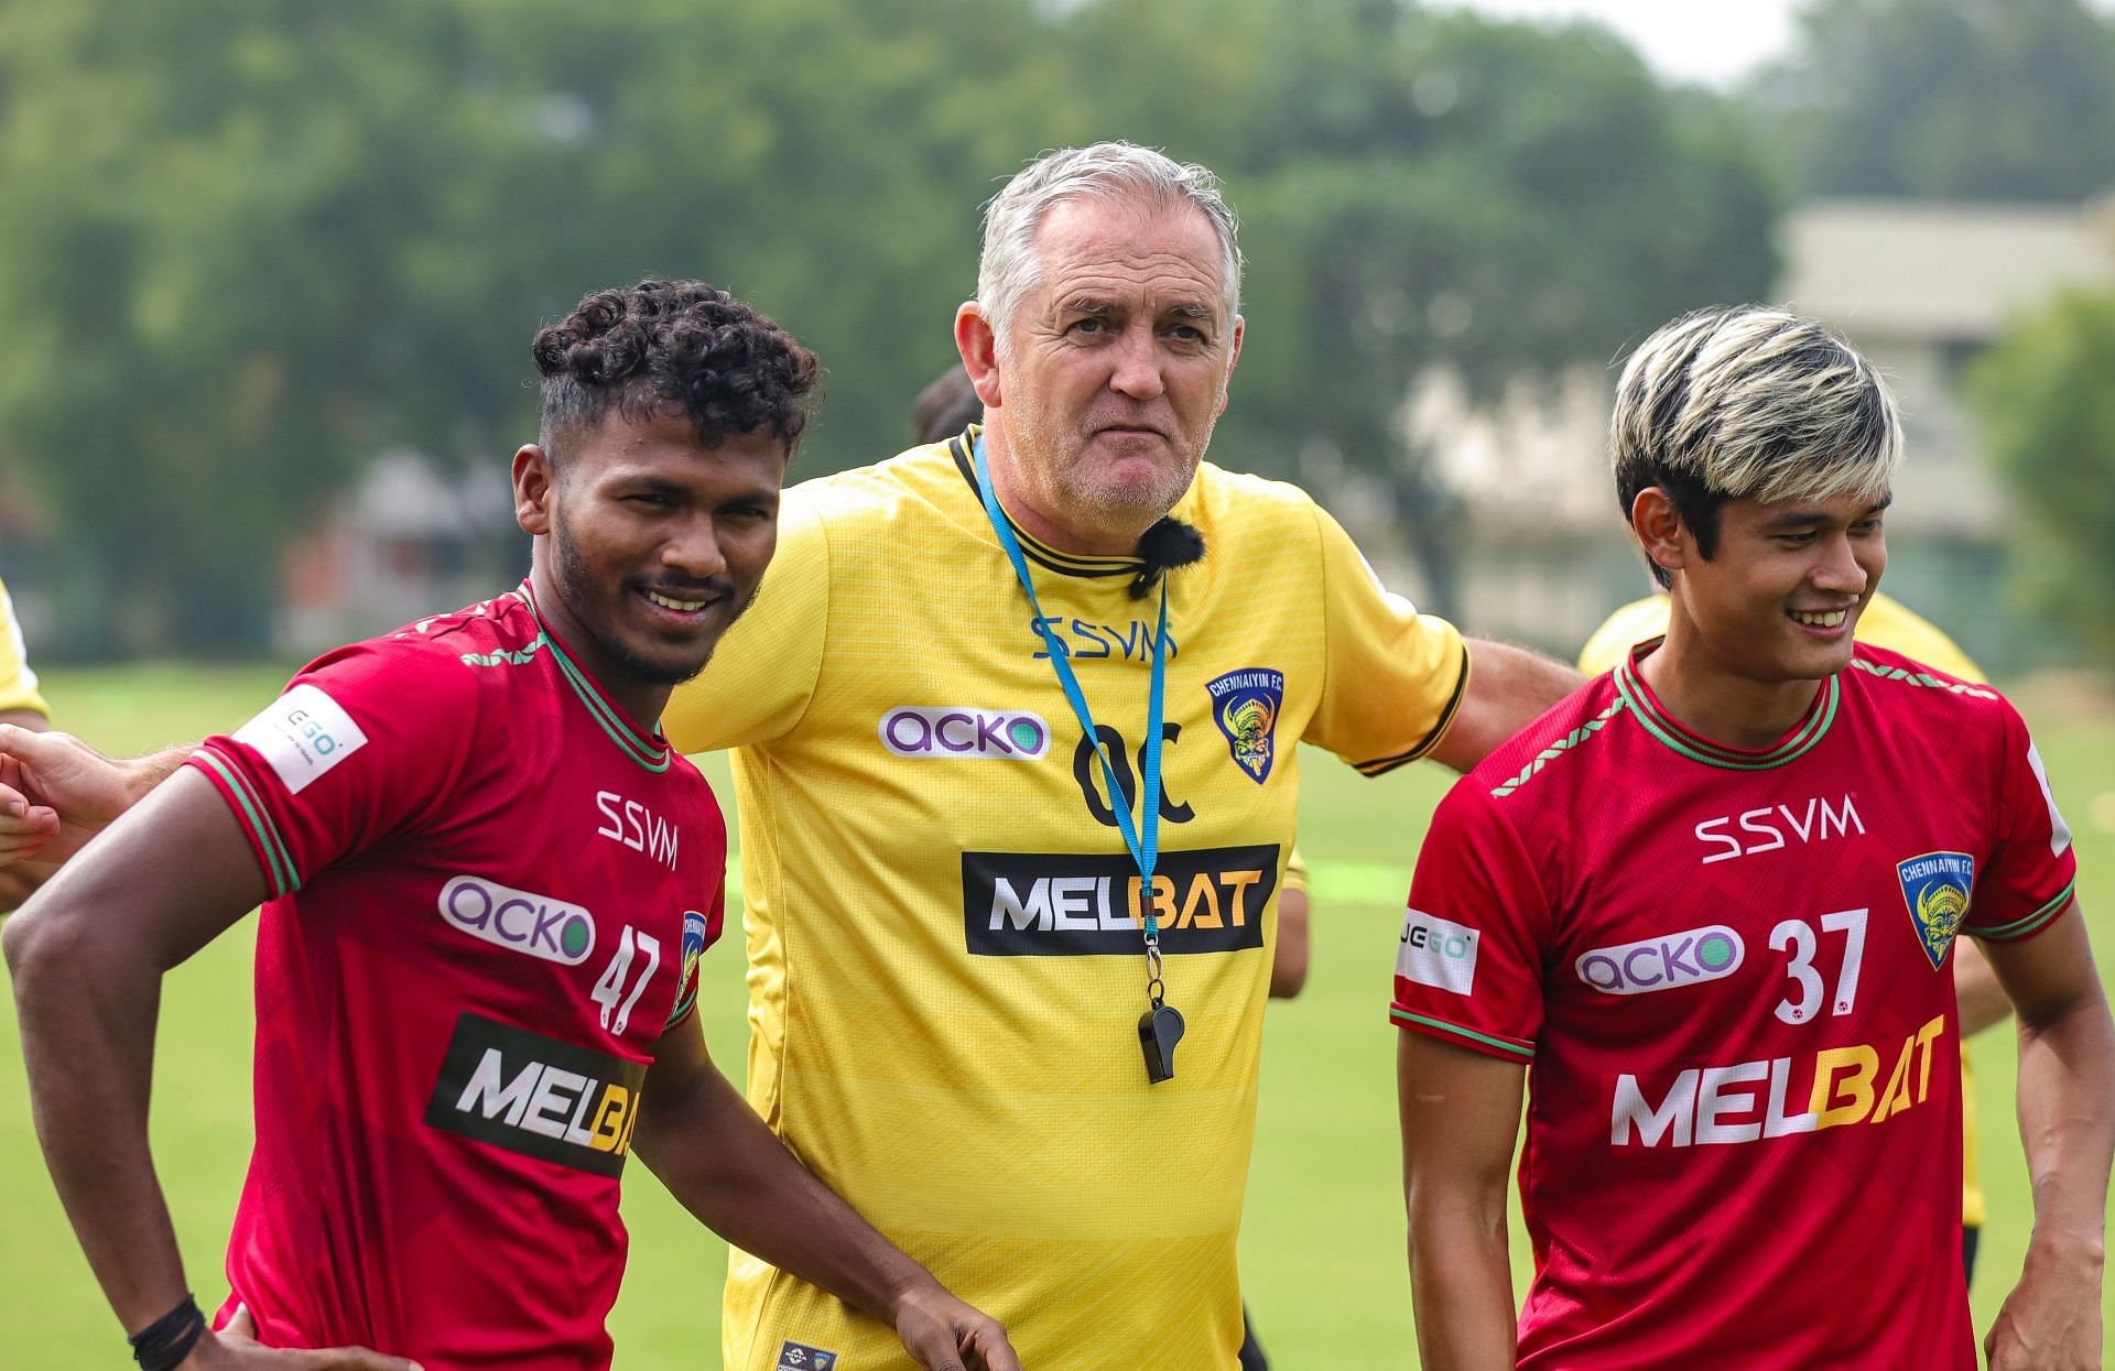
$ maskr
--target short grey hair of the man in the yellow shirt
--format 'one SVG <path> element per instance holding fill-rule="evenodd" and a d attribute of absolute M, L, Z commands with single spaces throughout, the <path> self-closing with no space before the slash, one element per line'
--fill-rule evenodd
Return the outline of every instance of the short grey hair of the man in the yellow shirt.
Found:
<path fill-rule="evenodd" d="M 1028 163 L 983 207 L 983 252 L 977 258 L 977 303 L 1000 341 L 1022 298 L 1043 275 L 1036 229 L 1068 199 L 1142 201 L 1153 207 L 1191 203 L 1218 237 L 1227 317 L 1242 309 L 1239 220 L 1218 190 L 1218 178 L 1195 163 L 1129 142 L 1045 152 Z"/>

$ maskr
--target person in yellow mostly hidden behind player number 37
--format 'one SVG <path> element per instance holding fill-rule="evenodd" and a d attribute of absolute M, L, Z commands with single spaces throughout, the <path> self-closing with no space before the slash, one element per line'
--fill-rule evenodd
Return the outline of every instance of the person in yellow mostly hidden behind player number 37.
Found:
<path fill-rule="evenodd" d="M 1669 601 L 1665 595 L 1648 595 L 1631 601 L 1607 616 L 1586 647 L 1580 650 L 1580 671 L 1601 675 L 1614 671 L 1622 654 L 1667 633 Z M 1916 658 L 1933 671 L 1942 671 L 1961 681 L 1986 681 L 1982 669 L 1969 660 L 1961 647 L 1939 633 L 1929 620 L 1912 614 L 1901 601 L 1876 590 L 1865 614 L 1857 622 L 1857 641 L 1899 652 Z M 2011 1016 L 2011 1001 L 1997 984 L 1990 961 L 1973 937 L 1954 942 L 1954 999 L 1961 1003 L 1961 1265 L 1973 1278 L 1975 1244 L 1988 1208 L 1982 1193 L 1982 1176 L 1975 1166 L 1975 1092 L 1969 1068 L 1969 1035 L 2001 1024 Z"/>

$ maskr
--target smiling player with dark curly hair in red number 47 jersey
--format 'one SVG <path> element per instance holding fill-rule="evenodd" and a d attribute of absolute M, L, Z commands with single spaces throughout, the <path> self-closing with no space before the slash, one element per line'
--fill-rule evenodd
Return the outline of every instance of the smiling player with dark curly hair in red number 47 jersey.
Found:
<path fill-rule="evenodd" d="M 787 1153 L 694 1013 L 725 827 L 656 719 L 772 559 L 816 360 L 721 290 L 643 281 L 541 330 L 535 362 L 529 578 L 133 768 L 173 776 L 6 929 L 89 1263 L 148 1371 L 607 1367 L 639 1151 L 920 1365 L 1017 1371 L 996 1322 Z M 0 781 L 51 798 L 82 753 L 17 757 Z M 161 975 L 260 901 L 256 1151 L 214 1333 L 148 1151 L 154 1016 Z"/>

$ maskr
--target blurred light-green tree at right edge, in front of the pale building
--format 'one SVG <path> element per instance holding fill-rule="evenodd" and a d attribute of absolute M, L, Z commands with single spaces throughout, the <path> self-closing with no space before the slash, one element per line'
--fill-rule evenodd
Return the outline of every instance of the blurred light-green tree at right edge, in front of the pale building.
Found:
<path fill-rule="evenodd" d="M 2018 319 L 1978 358 L 1969 398 L 1984 442 L 2039 537 L 2018 548 L 2024 590 L 2115 664 L 2115 292 L 2075 290 Z"/>

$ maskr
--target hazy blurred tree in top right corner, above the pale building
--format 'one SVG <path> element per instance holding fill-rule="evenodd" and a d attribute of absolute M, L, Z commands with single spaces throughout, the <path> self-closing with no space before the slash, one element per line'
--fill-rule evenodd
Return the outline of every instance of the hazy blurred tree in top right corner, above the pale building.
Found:
<path fill-rule="evenodd" d="M 1755 97 L 1817 195 L 2115 188 L 2115 21 L 2088 0 L 1815 0 Z"/>

